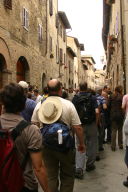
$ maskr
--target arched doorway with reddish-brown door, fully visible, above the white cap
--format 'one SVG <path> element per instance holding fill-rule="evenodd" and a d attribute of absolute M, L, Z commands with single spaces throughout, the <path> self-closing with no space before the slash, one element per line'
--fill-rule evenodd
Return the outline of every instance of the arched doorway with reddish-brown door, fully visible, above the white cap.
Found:
<path fill-rule="evenodd" d="M 21 56 L 17 61 L 17 82 L 26 81 L 30 82 L 30 69 L 25 57 Z"/>

